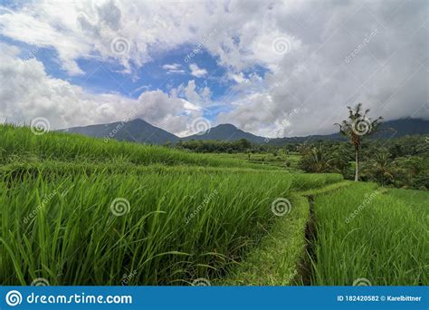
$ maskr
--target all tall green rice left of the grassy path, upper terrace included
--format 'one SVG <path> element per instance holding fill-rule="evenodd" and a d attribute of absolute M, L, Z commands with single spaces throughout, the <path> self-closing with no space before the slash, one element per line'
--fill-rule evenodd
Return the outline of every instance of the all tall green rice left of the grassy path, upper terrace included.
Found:
<path fill-rule="evenodd" d="M 271 231 L 275 199 L 341 180 L 0 126 L 0 283 L 217 283 Z M 296 207 L 281 231 L 302 245 L 308 209 Z"/>

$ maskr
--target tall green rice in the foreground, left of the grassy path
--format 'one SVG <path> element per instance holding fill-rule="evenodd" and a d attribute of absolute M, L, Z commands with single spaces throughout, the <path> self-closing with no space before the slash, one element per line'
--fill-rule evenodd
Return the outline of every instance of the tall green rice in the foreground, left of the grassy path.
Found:
<path fill-rule="evenodd" d="M 160 172 L 161 171 L 161 172 Z M 186 284 L 224 276 L 270 230 L 272 201 L 338 176 L 186 169 L 46 175 L 0 181 L 0 279 L 24 285 Z M 339 177 L 340 179 L 340 177 Z M 115 216 L 114 199 L 129 201 Z"/>

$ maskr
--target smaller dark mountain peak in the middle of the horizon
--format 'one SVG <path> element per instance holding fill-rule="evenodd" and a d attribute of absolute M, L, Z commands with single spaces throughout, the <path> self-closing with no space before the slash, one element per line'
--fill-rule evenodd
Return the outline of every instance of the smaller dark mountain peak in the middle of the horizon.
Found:
<path fill-rule="evenodd" d="M 221 124 L 211 128 L 209 131 L 205 131 L 203 134 L 194 134 L 182 138 L 181 140 L 240 140 L 245 139 L 255 144 L 261 144 L 265 138 L 255 136 L 252 133 L 239 130 L 232 124 Z"/>

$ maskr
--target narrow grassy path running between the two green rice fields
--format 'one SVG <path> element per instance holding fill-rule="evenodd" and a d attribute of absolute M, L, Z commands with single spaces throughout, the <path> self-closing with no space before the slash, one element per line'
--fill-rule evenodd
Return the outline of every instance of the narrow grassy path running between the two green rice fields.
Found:
<path fill-rule="evenodd" d="M 279 218 L 259 246 L 220 285 L 310 286 L 317 240 L 314 198 L 352 183 L 340 181 L 320 189 L 292 193 L 291 214 Z"/>

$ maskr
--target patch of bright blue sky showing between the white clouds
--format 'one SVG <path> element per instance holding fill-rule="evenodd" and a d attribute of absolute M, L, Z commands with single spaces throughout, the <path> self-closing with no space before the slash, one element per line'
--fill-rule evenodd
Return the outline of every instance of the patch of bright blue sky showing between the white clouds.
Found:
<path fill-rule="evenodd" d="M 131 73 L 124 73 L 124 67 L 120 63 L 105 62 L 96 58 L 77 59 L 76 63 L 84 74 L 71 75 L 62 68 L 58 61 L 58 53 L 52 48 L 25 44 L 5 36 L 0 36 L 0 42 L 19 46 L 21 50 L 19 57 L 23 60 L 37 59 L 43 63 L 48 75 L 80 85 L 87 92 L 95 94 L 119 93 L 125 97 L 138 99 L 143 92 L 161 90 L 169 93 L 180 85 L 195 81 L 197 88 L 208 87 L 211 91 L 212 104 L 203 110 L 203 116 L 210 121 L 214 121 L 220 111 L 230 110 L 223 103 L 223 99 L 234 99 L 232 87 L 237 82 L 226 77 L 227 69 L 218 65 L 218 57 L 207 53 L 204 48 L 189 57 L 195 49 L 192 44 L 183 44 L 167 53 L 159 53 L 152 61 L 141 67 L 131 63 Z M 207 73 L 195 76 L 190 69 L 191 64 Z M 168 70 L 166 66 L 174 66 L 177 69 Z M 251 73 L 263 76 L 267 72 L 268 68 L 255 64 L 241 73 L 243 78 L 249 78 Z M 178 94 L 178 97 L 186 99 L 183 94 Z"/>

